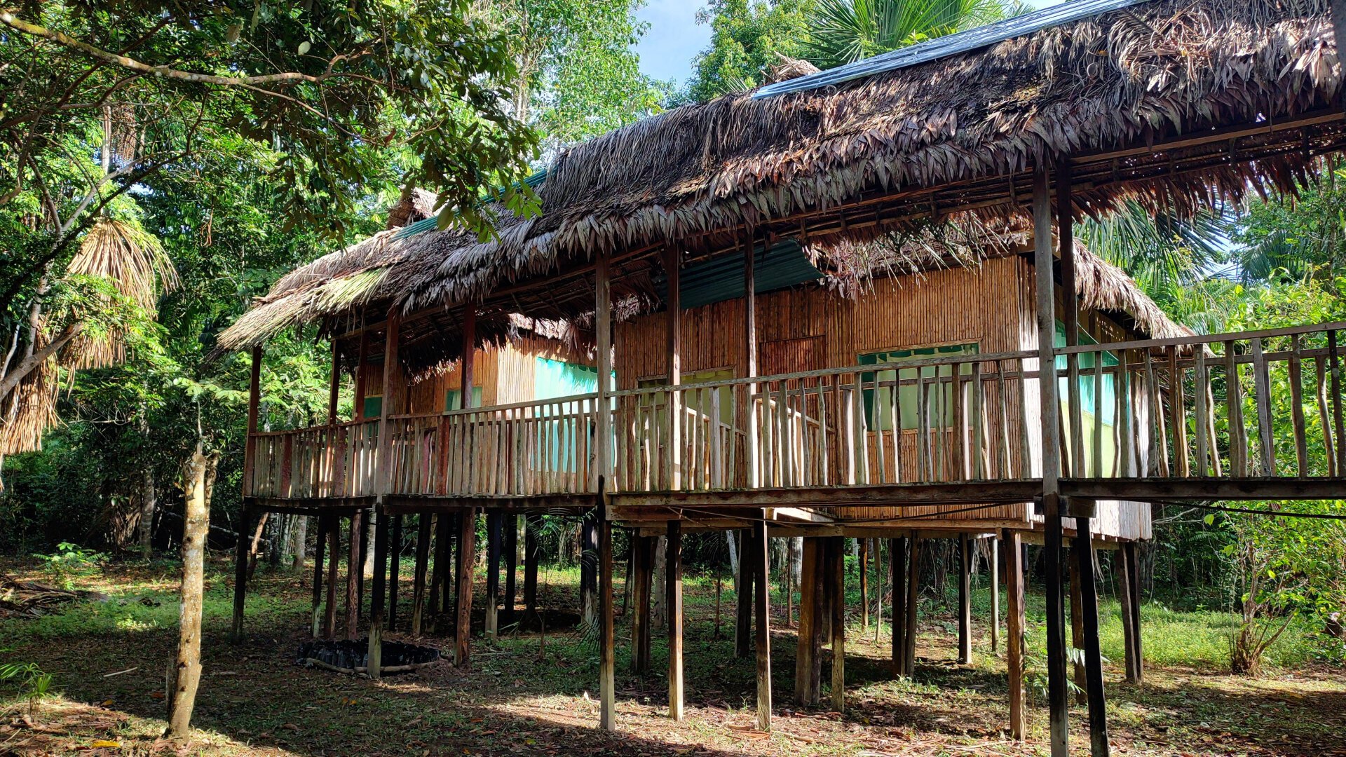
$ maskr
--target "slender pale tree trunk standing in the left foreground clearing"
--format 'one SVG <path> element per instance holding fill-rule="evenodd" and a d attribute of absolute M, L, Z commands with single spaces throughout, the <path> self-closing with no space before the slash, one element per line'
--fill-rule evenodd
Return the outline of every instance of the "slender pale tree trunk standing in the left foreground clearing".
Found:
<path fill-rule="evenodd" d="M 201 440 L 183 466 L 186 517 L 182 528 L 182 603 L 178 614 L 178 656 L 168 668 L 168 735 L 191 734 L 191 710 L 201 684 L 201 616 L 205 587 L 206 536 L 210 531 L 210 489 L 217 455 L 207 458 Z"/>

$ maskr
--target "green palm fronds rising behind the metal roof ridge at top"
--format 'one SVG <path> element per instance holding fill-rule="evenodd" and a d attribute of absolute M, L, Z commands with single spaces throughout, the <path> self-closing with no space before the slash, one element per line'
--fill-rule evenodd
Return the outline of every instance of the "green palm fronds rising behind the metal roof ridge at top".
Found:
<path fill-rule="evenodd" d="M 806 57 L 829 69 L 1031 9 L 1018 0 L 818 0 Z"/>

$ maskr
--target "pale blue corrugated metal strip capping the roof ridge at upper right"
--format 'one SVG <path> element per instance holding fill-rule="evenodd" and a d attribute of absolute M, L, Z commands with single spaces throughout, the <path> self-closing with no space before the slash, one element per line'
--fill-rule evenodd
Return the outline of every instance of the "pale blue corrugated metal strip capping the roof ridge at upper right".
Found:
<path fill-rule="evenodd" d="M 900 50 L 875 55 L 874 58 L 865 58 L 864 61 L 856 61 L 855 63 L 847 63 L 844 66 L 809 74 L 806 77 L 771 84 L 754 92 L 752 97 L 754 100 L 760 100 L 763 97 L 774 97 L 777 94 L 786 94 L 790 92 L 806 92 L 824 86 L 835 86 L 874 74 L 895 71 L 907 66 L 937 61 L 946 55 L 968 53 L 969 50 L 1004 42 L 1005 39 L 1032 34 L 1042 28 L 1061 26 L 1063 23 L 1088 16 L 1097 16 L 1098 13 L 1106 13 L 1108 11 L 1116 11 L 1128 5 L 1139 5 L 1145 1 L 1148 0 L 1073 0 L 1062 3 L 1061 5 L 1034 11 L 1032 13 L 1024 13 L 1022 16 L 987 24 L 984 27 L 960 31 L 957 34 L 913 44 Z"/>

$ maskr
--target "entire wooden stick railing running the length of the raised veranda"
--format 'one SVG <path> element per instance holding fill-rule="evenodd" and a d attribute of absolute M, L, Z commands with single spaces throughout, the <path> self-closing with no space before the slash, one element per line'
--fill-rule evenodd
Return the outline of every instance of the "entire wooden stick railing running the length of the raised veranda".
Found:
<path fill-rule="evenodd" d="M 1042 474 L 1043 422 L 1059 431 L 1065 478 L 1337 477 L 1346 471 L 1342 329 L 1062 348 L 1061 403 L 1046 414 L 1035 352 L 618 391 L 606 408 L 610 488 L 1031 480 Z M 246 492 L 594 493 L 599 412 L 591 393 L 392 416 L 385 449 L 378 420 L 262 432 Z"/>

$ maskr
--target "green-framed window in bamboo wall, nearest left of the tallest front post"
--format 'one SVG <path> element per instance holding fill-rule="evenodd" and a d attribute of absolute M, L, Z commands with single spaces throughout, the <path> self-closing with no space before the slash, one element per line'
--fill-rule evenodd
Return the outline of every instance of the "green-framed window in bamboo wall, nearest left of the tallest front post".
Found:
<path fill-rule="evenodd" d="M 860 356 L 860 365 L 898 365 L 903 362 L 913 362 L 918 360 L 931 360 L 938 357 L 954 357 L 960 354 L 977 354 L 976 343 L 966 345 L 942 345 L 934 348 L 919 348 L 910 350 L 888 350 L 876 352 Z M 919 372 L 919 374 L 918 374 Z M 949 377 L 952 376 L 953 368 L 946 365 L 926 365 L 921 368 L 895 368 L 891 370 L 878 370 L 878 380 L 880 383 L 878 396 L 874 391 L 875 372 L 861 373 L 860 383 L 861 387 L 870 387 L 864 389 L 864 423 L 871 431 L 891 431 L 892 430 L 892 381 L 903 381 L 896 389 L 896 415 L 900 416 L 902 428 L 915 428 L 917 419 L 919 418 L 919 384 L 917 378 L 934 378 L 935 374 Z M 965 362 L 958 365 L 960 374 L 968 376 L 972 373 L 972 364 Z M 910 384 L 907 383 L 910 381 Z M 929 404 L 926 412 L 931 414 L 931 418 L 938 412 L 938 407 L 944 408 L 944 426 L 953 424 L 953 384 L 941 384 L 944 391 L 944 397 L 938 397 L 934 392 L 929 395 Z M 875 418 L 878 414 L 878 418 Z"/>

